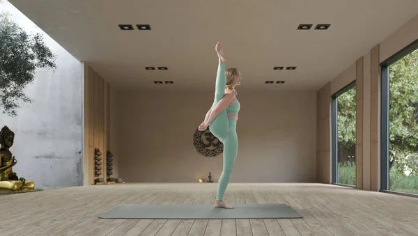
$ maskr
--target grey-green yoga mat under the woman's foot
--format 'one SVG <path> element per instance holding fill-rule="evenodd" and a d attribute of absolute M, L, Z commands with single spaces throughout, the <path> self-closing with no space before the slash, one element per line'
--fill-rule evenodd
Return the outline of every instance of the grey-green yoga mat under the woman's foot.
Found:
<path fill-rule="evenodd" d="M 235 204 L 235 209 L 213 205 L 121 204 L 104 213 L 102 219 L 295 219 L 302 218 L 285 204 Z"/>

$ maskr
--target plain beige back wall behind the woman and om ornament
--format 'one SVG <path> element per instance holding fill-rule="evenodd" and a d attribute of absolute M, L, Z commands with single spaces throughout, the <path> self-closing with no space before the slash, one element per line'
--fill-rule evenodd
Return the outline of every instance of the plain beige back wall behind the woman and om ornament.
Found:
<path fill-rule="evenodd" d="M 222 155 L 203 157 L 193 145 L 212 92 L 117 96 L 121 178 L 127 182 L 217 182 Z M 231 182 L 316 182 L 316 94 L 238 95 L 239 151 Z"/>

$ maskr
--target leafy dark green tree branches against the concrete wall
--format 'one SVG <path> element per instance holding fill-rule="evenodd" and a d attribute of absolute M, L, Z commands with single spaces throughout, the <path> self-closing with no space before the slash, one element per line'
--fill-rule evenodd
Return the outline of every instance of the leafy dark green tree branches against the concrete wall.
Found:
<path fill-rule="evenodd" d="M 54 55 L 39 33 L 29 35 L 8 15 L 0 13 L 0 107 L 16 116 L 19 100 L 32 102 L 24 88 L 33 82 L 37 68 L 56 68 Z"/>

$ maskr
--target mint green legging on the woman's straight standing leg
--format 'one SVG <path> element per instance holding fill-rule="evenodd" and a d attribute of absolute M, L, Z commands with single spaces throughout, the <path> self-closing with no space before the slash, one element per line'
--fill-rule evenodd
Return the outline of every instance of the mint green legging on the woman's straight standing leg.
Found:
<path fill-rule="evenodd" d="M 224 198 L 225 190 L 228 187 L 238 154 L 238 136 L 235 129 L 236 121 L 232 119 L 228 119 L 228 121 L 230 124 L 230 132 L 225 139 L 221 140 L 224 143 L 224 169 L 221 178 L 219 178 L 216 200 L 222 200 Z"/>

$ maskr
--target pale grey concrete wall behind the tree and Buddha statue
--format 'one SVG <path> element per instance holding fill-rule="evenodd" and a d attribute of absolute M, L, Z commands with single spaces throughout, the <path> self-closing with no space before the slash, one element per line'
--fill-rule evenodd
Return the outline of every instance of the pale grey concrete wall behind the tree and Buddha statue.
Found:
<path fill-rule="evenodd" d="M 17 159 L 13 171 L 33 180 L 37 189 L 79 186 L 83 183 L 83 68 L 82 63 L 43 33 L 8 1 L 0 11 L 26 31 L 42 33 L 45 43 L 57 54 L 55 70 L 38 70 L 25 93 L 32 104 L 20 103 L 18 116 L 0 114 L 0 125 L 15 132 L 10 149 Z"/>

